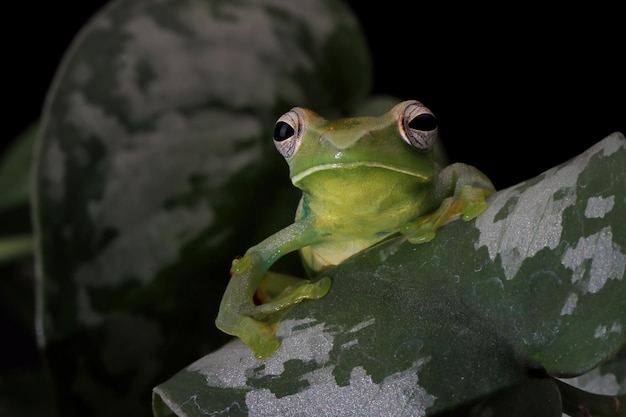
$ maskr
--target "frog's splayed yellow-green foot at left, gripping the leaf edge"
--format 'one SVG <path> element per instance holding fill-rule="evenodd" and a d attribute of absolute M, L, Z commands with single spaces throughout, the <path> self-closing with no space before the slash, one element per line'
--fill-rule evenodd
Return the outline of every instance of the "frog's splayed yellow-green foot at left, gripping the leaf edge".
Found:
<path fill-rule="evenodd" d="M 290 308 L 305 299 L 323 297 L 331 282 L 327 277 L 310 282 L 264 274 L 258 263 L 249 255 L 233 263 L 234 273 L 215 323 L 225 333 L 243 340 L 258 359 L 264 359 L 280 346 L 276 330 Z M 254 299 L 260 304 L 253 300 L 255 293 Z"/>

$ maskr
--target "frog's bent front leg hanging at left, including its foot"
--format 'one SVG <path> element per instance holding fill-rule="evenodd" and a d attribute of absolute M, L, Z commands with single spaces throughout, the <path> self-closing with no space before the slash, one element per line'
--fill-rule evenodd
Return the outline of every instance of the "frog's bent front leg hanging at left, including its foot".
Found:
<path fill-rule="evenodd" d="M 225 333 L 243 340 L 259 359 L 271 356 L 278 349 L 280 343 L 275 333 L 290 307 L 305 299 L 321 298 L 330 289 L 329 278 L 310 282 L 268 277 L 269 267 L 278 258 L 312 243 L 306 231 L 306 225 L 296 222 L 233 261 L 232 277 L 215 323 Z M 280 288 L 273 289 L 271 297 L 263 297 L 261 304 L 257 304 L 255 293 L 265 278 Z"/>

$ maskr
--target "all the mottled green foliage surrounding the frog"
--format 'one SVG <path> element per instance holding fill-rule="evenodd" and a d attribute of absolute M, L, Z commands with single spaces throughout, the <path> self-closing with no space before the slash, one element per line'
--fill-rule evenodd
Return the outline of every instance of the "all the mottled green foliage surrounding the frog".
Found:
<path fill-rule="evenodd" d="M 34 171 L 35 128 L 0 161 L 0 295 L 30 323 L 36 241 L 46 364 L 0 376 L 0 414 L 362 415 L 382 404 L 557 416 L 562 404 L 577 415 L 626 403 L 619 135 L 501 191 L 432 244 L 390 240 L 329 271 L 331 293 L 290 313 L 268 361 L 224 345 L 213 320 L 231 259 L 297 204 L 270 140 L 276 117 L 293 105 L 329 117 L 385 107 L 366 101 L 370 68 L 340 0 L 102 10 L 55 77 Z"/>

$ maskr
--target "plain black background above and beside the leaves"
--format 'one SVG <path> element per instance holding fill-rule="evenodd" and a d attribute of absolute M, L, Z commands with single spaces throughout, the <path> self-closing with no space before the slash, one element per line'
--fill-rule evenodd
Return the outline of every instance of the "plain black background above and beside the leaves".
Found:
<path fill-rule="evenodd" d="M 107 2 L 73 3 L 13 2 L 5 14 L 5 143 L 38 117 L 64 51 Z M 476 165 L 497 188 L 626 133 L 626 28 L 617 6 L 348 3 L 371 46 L 374 93 L 430 107 L 451 160 Z"/>

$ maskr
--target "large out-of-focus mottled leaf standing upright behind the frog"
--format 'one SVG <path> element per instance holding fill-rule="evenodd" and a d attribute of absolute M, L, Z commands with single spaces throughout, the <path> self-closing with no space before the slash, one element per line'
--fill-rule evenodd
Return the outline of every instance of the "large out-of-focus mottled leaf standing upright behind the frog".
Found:
<path fill-rule="evenodd" d="M 224 342 L 232 258 L 296 206 L 275 119 L 348 112 L 369 82 L 338 0 L 120 0 L 89 23 L 36 162 L 38 326 L 60 414 L 147 415 L 154 385 Z"/>

